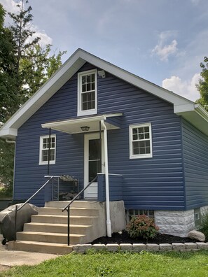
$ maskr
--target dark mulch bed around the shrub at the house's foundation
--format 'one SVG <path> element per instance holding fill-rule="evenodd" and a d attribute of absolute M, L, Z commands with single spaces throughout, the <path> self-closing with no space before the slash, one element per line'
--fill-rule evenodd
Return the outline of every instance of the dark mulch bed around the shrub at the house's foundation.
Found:
<path fill-rule="evenodd" d="M 188 238 L 181 238 L 179 236 L 171 236 L 167 234 L 158 234 L 155 236 L 154 239 L 132 239 L 130 236 L 127 234 L 126 231 L 123 231 L 122 234 L 120 233 L 113 233 L 112 237 L 109 238 L 108 236 L 102 236 L 101 238 L 95 239 L 95 241 L 92 241 L 91 244 L 95 243 L 102 243 L 102 244 L 107 244 L 107 243 L 187 243 L 187 242 L 196 242 L 193 239 L 188 239 Z"/>

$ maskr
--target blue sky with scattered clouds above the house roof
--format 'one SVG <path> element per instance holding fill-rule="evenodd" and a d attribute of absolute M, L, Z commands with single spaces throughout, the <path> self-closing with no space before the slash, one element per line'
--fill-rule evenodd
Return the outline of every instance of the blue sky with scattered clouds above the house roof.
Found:
<path fill-rule="evenodd" d="M 0 0 L 15 12 L 18 0 Z M 192 101 L 208 55 L 207 0 L 29 0 L 42 45 L 78 48 Z M 6 24 L 9 24 L 6 17 Z"/>

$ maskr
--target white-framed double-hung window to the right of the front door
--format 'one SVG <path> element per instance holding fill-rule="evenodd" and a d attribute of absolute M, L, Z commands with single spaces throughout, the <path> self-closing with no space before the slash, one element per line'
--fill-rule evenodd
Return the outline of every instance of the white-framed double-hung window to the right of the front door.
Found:
<path fill-rule="evenodd" d="M 151 124 L 130 126 L 130 159 L 153 157 Z"/>

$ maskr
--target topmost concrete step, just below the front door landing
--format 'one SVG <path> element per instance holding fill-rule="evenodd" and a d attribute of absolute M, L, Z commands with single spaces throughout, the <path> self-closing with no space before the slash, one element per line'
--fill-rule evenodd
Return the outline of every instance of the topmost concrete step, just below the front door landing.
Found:
<path fill-rule="evenodd" d="M 45 203 L 45 207 L 64 208 L 71 201 L 50 201 Z M 73 208 L 104 208 L 104 203 L 98 201 L 76 200 L 71 204 Z"/>

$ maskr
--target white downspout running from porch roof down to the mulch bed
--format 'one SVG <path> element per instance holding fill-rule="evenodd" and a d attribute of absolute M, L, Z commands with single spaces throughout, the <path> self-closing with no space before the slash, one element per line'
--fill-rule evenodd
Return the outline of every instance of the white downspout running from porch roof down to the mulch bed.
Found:
<path fill-rule="evenodd" d="M 104 127 L 104 157 L 105 157 L 105 177 L 106 177 L 106 229 L 107 229 L 107 236 L 111 237 L 108 139 L 107 139 L 107 128 L 104 123 L 104 120 L 101 120 L 101 124 L 102 124 L 102 127 Z"/>

